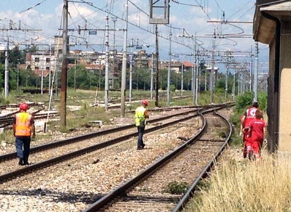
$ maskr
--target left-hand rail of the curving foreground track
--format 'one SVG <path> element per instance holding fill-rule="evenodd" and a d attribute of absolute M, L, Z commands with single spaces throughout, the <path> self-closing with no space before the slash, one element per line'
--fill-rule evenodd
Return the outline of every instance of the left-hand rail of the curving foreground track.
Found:
<path fill-rule="evenodd" d="M 107 195 L 103 196 L 102 198 L 97 200 L 95 203 L 91 204 L 88 208 L 83 210 L 83 212 L 96 212 L 96 211 L 100 210 L 102 207 L 106 206 L 108 203 L 113 201 L 113 199 L 115 199 L 116 197 L 124 195 L 125 192 L 130 187 L 132 187 L 133 185 L 138 183 L 140 180 L 145 179 L 150 173 L 157 170 L 159 167 L 161 167 L 165 163 L 169 162 L 171 159 L 173 159 L 179 153 L 181 153 L 183 150 L 185 150 L 189 145 L 196 142 L 202 136 L 202 134 L 205 132 L 205 130 L 207 129 L 207 120 L 203 116 L 203 114 L 213 112 L 214 110 L 216 110 L 216 109 L 210 109 L 210 110 L 204 111 L 204 112 L 201 112 L 201 110 L 199 110 L 198 115 L 202 118 L 203 126 L 202 126 L 201 130 L 199 130 L 199 132 L 196 135 L 194 135 L 191 139 L 189 139 L 183 145 L 175 148 L 173 151 L 171 151 L 170 153 L 163 156 L 157 162 L 155 162 L 152 165 L 150 165 L 149 167 L 147 167 L 144 171 L 139 173 L 136 177 L 129 179 L 124 184 L 118 186 L 113 191 L 111 191 Z"/>

